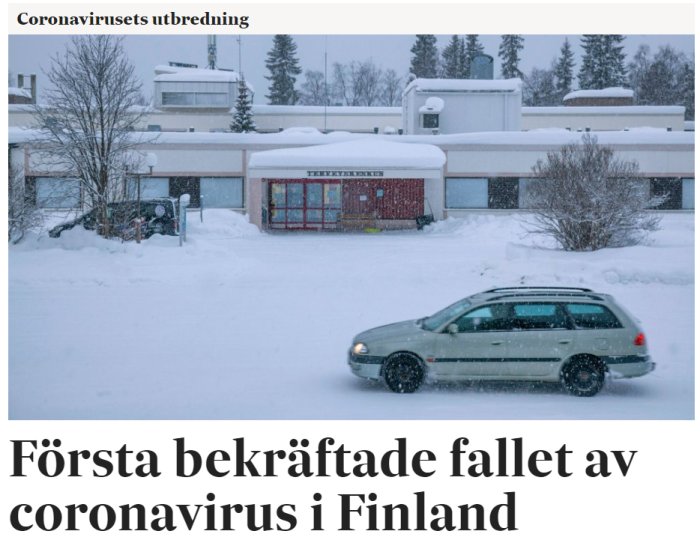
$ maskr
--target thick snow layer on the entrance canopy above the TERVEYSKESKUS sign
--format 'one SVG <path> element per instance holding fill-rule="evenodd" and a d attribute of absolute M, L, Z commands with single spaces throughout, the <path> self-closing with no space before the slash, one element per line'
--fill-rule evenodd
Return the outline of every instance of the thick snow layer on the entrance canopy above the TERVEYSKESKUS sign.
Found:
<path fill-rule="evenodd" d="M 407 144 L 377 137 L 355 141 L 282 148 L 256 152 L 249 169 L 276 167 L 400 167 L 402 169 L 439 169 L 445 153 L 431 144 Z"/>

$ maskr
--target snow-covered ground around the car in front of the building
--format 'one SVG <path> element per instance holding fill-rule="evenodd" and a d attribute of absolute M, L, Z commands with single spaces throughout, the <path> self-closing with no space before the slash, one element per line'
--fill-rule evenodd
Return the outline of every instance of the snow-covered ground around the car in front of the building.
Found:
<path fill-rule="evenodd" d="M 641 246 L 565 253 L 508 215 L 380 234 L 263 234 L 189 215 L 188 242 L 73 230 L 9 251 L 12 419 L 655 419 L 694 414 L 694 215 Z M 608 292 L 657 369 L 590 399 L 557 385 L 424 386 L 354 377 L 354 334 L 494 286 Z"/>

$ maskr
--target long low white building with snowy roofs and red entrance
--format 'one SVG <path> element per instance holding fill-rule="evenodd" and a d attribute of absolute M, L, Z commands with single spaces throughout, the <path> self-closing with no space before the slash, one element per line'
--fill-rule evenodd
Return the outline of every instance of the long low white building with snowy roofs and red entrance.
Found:
<path fill-rule="evenodd" d="M 527 209 L 537 160 L 591 132 L 639 164 L 650 193 L 669 195 L 663 210 L 694 208 L 694 133 L 683 131 L 683 107 L 521 109 L 517 80 L 417 79 L 403 108 L 257 106 L 267 133 L 234 134 L 223 132 L 223 103 L 237 75 L 225 73 L 156 75 L 161 106 L 146 110 L 143 134 L 134 134 L 158 157 L 142 180 L 144 197 L 189 193 L 194 207 L 247 213 L 264 229 L 410 227 L 425 214 Z M 9 107 L 11 126 L 31 125 L 31 106 Z M 10 127 L 9 140 L 38 205 L 81 207 L 79 183 L 37 159 L 31 130 Z M 65 196 L 55 196 L 56 186 Z"/>

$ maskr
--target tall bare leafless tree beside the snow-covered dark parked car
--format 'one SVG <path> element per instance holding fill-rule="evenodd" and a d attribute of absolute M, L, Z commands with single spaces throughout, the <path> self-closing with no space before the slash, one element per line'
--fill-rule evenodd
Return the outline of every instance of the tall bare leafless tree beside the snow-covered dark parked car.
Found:
<path fill-rule="evenodd" d="M 122 38 L 110 35 L 74 37 L 46 76 L 44 103 L 34 109 L 41 160 L 79 179 L 83 202 L 100 209 L 99 230 L 108 235 L 107 203 L 124 197 L 126 174 L 139 167 L 141 83 Z"/>

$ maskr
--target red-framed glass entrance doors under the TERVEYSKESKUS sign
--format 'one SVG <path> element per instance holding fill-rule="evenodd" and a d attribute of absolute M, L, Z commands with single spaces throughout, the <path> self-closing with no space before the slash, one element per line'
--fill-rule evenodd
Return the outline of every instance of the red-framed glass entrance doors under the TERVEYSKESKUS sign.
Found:
<path fill-rule="evenodd" d="M 268 185 L 270 228 L 337 228 L 340 180 L 270 180 Z"/>

